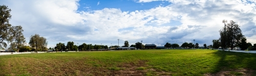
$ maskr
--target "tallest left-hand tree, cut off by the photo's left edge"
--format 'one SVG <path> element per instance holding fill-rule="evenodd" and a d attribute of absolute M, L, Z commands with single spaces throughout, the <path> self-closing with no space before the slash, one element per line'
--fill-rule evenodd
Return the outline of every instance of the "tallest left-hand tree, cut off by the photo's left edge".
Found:
<path fill-rule="evenodd" d="M 9 20 L 11 19 L 11 9 L 8 6 L 0 6 L 0 48 L 7 46 L 7 42 L 9 42 L 9 29 L 11 28 L 11 24 L 9 24 Z"/>

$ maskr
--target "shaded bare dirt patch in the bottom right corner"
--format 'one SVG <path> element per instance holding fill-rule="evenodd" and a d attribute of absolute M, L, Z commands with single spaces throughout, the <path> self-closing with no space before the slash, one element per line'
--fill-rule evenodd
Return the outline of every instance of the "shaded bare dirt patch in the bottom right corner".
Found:
<path fill-rule="evenodd" d="M 230 69 L 230 70 L 225 70 L 225 71 L 219 71 L 217 73 L 207 73 L 204 74 L 205 76 L 235 76 L 235 75 L 242 75 L 242 76 L 247 76 L 247 75 L 253 75 L 254 70 L 252 69 Z"/>

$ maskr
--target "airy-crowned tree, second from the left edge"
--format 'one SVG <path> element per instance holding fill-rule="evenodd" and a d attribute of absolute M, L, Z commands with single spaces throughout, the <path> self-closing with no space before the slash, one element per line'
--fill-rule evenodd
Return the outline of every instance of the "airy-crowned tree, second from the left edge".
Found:
<path fill-rule="evenodd" d="M 11 42 L 10 48 L 11 49 L 17 49 L 17 52 L 19 52 L 19 48 L 25 44 L 26 40 L 23 35 L 24 30 L 22 29 L 22 26 L 13 26 L 10 29 L 10 37 L 9 41 Z"/>

